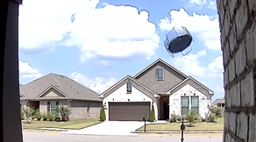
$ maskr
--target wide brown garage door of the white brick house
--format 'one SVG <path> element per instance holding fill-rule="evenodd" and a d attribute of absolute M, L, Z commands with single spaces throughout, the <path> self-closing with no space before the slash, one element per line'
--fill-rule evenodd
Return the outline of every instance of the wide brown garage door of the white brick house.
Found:
<path fill-rule="evenodd" d="M 110 102 L 109 120 L 142 121 L 144 116 L 148 120 L 150 102 Z"/>

